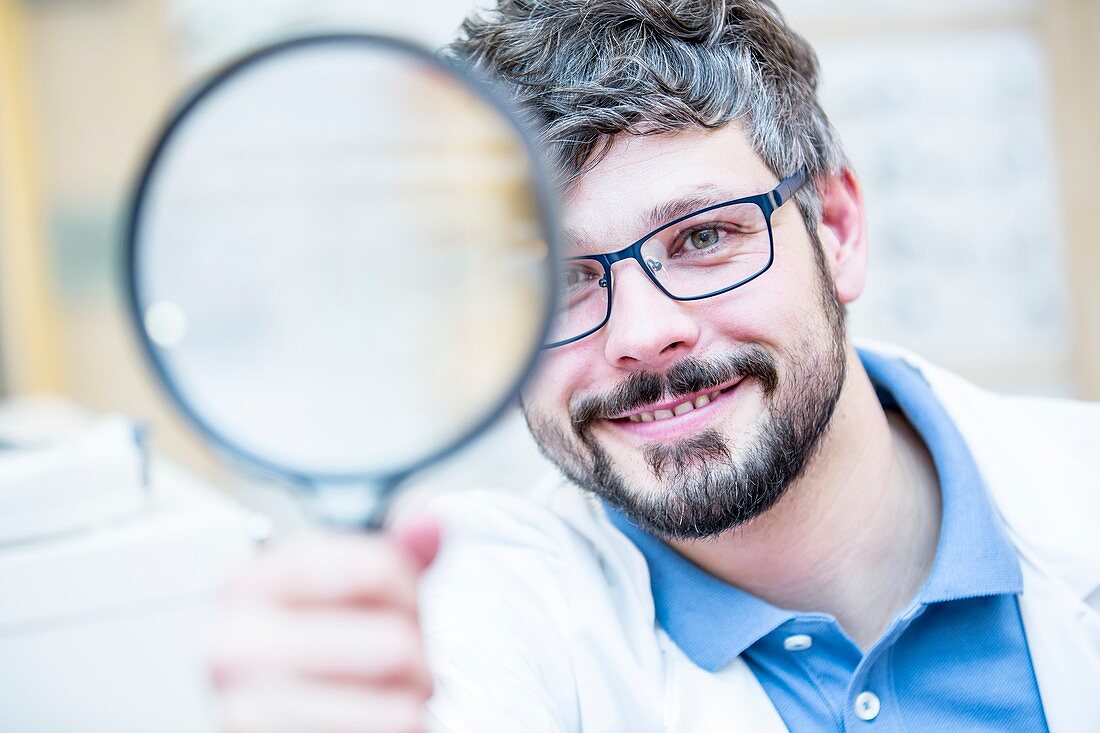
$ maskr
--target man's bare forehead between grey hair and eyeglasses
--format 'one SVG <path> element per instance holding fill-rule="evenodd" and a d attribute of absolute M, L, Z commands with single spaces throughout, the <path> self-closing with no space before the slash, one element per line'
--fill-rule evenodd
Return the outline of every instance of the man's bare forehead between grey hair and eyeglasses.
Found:
<path fill-rule="evenodd" d="M 717 130 L 623 134 L 572 184 L 563 201 L 563 223 L 575 243 L 608 237 L 618 242 L 646 233 L 649 212 L 669 201 L 700 194 L 751 196 L 777 183 L 736 123 Z"/>

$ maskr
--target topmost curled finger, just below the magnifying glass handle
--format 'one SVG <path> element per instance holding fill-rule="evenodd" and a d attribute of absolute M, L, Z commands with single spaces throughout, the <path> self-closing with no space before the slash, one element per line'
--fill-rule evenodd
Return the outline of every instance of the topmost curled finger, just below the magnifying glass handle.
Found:
<path fill-rule="evenodd" d="M 233 602 L 416 605 L 418 562 L 383 535 L 318 534 L 273 546 L 227 589 Z"/>

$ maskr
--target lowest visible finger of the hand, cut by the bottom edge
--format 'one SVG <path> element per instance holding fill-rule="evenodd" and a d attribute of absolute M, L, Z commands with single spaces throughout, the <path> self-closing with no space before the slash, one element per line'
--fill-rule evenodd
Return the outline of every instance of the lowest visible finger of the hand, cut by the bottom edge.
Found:
<path fill-rule="evenodd" d="M 377 690 L 293 682 L 221 696 L 224 733 L 424 733 L 424 701 Z"/>

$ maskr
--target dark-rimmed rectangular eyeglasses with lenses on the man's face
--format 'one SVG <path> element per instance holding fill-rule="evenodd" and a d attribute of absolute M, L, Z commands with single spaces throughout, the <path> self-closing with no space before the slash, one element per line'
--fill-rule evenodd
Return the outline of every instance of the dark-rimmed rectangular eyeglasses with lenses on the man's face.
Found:
<path fill-rule="evenodd" d="M 617 252 L 562 262 L 558 309 L 543 349 L 595 333 L 612 316 L 612 265 L 635 260 L 674 300 L 701 300 L 759 277 L 774 259 L 771 215 L 807 179 L 805 169 L 767 194 L 724 201 L 682 216 Z"/>

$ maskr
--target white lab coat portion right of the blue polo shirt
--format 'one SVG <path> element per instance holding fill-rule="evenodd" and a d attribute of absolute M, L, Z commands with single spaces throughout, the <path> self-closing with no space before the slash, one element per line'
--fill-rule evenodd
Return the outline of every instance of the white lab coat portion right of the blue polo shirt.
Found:
<path fill-rule="evenodd" d="M 905 355 L 930 379 L 981 468 L 1020 557 L 1020 614 L 1050 733 L 1100 732 L 1100 583 L 1097 462 L 1069 445 L 1094 434 L 1096 415 L 1011 402 Z M 1025 412 L 1025 405 L 1033 412 Z M 1054 416 L 1053 407 L 1048 408 Z M 1037 500 L 1041 488 L 1055 500 Z"/>

